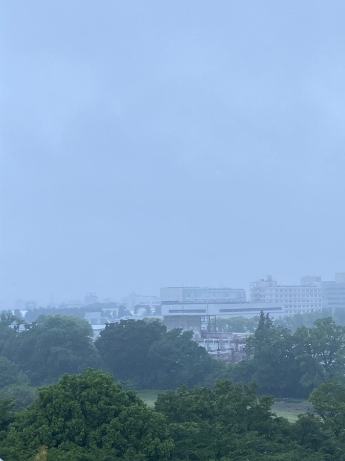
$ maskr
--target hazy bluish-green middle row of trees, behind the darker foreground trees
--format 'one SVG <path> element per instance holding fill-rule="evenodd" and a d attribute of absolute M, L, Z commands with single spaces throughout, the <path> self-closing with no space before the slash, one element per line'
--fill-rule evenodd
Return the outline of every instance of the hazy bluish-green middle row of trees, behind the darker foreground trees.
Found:
<path fill-rule="evenodd" d="M 225 378 L 256 381 L 260 393 L 279 397 L 307 397 L 327 379 L 344 381 L 345 327 L 329 317 L 292 333 L 262 313 L 247 342 L 248 360 L 228 366 L 212 359 L 191 332 L 167 332 L 152 319 L 107 324 L 96 342 L 80 318 L 40 316 L 28 324 L 3 312 L 0 320 L 0 371 L 8 367 L 4 375 L 12 376 L 0 379 L 0 398 L 15 396 L 17 408 L 33 401 L 33 388 L 88 367 L 111 372 L 127 388 L 212 387 Z"/>

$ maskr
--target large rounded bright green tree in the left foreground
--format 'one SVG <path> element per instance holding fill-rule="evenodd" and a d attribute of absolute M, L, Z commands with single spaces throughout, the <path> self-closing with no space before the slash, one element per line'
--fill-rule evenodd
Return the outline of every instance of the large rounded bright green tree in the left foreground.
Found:
<path fill-rule="evenodd" d="M 49 459 L 164 461 L 173 448 L 164 417 L 111 375 L 91 369 L 64 374 L 9 426 L 5 459 L 27 461 L 42 447 Z M 64 458 L 64 456 L 67 457 Z M 76 457 L 76 456 L 80 457 Z"/>

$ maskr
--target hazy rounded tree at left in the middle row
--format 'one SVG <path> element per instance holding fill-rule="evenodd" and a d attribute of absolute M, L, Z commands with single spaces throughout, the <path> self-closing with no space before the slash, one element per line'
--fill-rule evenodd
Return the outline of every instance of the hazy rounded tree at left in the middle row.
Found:
<path fill-rule="evenodd" d="M 100 366 L 90 324 L 75 317 L 41 316 L 17 335 L 7 355 L 34 385 L 52 383 L 63 373 Z"/>

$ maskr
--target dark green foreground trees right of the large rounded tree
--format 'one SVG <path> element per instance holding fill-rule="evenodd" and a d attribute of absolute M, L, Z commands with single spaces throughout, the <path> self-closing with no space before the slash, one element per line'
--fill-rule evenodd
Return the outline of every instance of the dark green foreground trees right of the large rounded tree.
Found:
<path fill-rule="evenodd" d="M 214 390 L 180 387 L 158 395 L 156 409 L 169 423 L 174 460 L 326 459 L 298 443 L 294 425 L 270 411 L 273 399 L 257 397 L 254 385 L 220 380 Z M 306 437 L 312 438 L 307 429 Z M 321 440 L 326 440 L 320 435 Z"/>

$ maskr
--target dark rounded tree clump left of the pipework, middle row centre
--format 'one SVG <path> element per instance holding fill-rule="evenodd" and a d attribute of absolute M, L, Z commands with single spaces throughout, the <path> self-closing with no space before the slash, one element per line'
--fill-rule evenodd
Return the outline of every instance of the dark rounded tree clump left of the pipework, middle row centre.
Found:
<path fill-rule="evenodd" d="M 169 389 L 201 383 L 217 366 L 192 332 L 167 332 L 162 323 L 121 320 L 106 325 L 96 341 L 107 369 L 117 380 L 141 388 Z"/>

